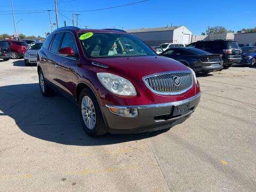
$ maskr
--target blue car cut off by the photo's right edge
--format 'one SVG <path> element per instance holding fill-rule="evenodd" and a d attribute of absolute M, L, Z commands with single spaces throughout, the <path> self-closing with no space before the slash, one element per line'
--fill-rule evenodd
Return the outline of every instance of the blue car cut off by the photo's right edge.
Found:
<path fill-rule="evenodd" d="M 245 46 L 241 47 L 242 50 L 242 61 L 241 63 L 250 66 L 256 65 L 256 46 Z"/>

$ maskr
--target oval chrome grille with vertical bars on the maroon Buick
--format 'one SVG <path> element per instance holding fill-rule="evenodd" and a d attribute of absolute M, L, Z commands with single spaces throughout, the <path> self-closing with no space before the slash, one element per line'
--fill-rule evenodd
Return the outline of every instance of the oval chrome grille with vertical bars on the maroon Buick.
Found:
<path fill-rule="evenodd" d="M 167 72 L 143 77 L 143 81 L 154 93 L 175 95 L 184 93 L 193 86 L 193 74 L 189 71 Z"/>

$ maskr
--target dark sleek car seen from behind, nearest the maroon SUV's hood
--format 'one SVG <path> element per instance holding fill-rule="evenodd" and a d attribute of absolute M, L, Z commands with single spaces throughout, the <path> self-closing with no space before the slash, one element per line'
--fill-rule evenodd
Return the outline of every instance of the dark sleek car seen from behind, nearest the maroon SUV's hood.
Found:
<path fill-rule="evenodd" d="M 211 54 L 193 47 L 173 47 L 161 55 L 180 61 L 193 69 L 196 73 L 210 73 L 222 70 L 221 54 Z"/>

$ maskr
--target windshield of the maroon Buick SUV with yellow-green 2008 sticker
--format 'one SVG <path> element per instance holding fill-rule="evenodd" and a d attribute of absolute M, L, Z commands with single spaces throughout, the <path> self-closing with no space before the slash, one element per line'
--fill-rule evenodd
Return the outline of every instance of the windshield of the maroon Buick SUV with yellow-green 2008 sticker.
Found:
<path fill-rule="evenodd" d="M 78 33 L 88 58 L 156 55 L 139 38 L 128 34 Z"/>

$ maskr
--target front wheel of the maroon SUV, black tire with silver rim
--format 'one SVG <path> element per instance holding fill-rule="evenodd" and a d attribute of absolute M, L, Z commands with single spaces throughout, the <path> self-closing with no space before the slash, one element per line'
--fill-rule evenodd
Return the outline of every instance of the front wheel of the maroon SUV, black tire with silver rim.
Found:
<path fill-rule="evenodd" d="M 108 133 L 99 103 L 91 90 L 83 89 L 81 91 L 78 105 L 82 126 L 88 135 L 99 137 Z"/>

